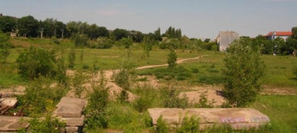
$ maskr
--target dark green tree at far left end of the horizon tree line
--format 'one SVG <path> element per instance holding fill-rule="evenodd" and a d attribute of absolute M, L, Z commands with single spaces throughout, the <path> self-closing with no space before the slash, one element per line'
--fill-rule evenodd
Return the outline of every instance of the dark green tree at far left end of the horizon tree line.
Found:
<path fill-rule="evenodd" d="M 16 21 L 14 18 L 10 16 L 0 17 L 0 31 L 3 33 L 11 32 L 11 30 L 15 30 Z"/>

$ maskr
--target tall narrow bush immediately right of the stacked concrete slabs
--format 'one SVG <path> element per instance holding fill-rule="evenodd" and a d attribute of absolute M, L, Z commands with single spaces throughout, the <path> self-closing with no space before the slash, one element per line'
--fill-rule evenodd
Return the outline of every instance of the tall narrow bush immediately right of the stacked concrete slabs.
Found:
<path fill-rule="evenodd" d="M 89 94 L 88 106 L 85 110 L 87 129 L 107 128 L 106 109 L 108 104 L 108 88 L 104 83 L 104 72 L 100 72 L 100 85 L 93 85 L 93 92 Z"/>

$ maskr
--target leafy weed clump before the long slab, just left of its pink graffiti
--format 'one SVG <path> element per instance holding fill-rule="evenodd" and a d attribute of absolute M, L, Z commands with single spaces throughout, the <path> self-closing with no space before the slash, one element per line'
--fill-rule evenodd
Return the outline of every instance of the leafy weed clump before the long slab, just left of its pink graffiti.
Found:
<path fill-rule="evenodd" d="M 185 116 L 181 127 L 176 129 L 176 133 L 199 133 L 199 118 L 197 116 L 191 116 L 190 119 L 188 116 Z"/>

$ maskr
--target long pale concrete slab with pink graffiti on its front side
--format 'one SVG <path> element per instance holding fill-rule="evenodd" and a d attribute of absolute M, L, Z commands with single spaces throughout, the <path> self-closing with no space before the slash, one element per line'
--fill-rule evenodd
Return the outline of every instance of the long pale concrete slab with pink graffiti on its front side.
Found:
<path fill-rule="evenodd" d="M 185 116 L 195 115 L 200 118 L 201 128 L 213 124 L 230 124 L 234 129 L 244 129 L 258 127 L 270 121 L 268 116 L 253 108 L 151 108 L 148 112 L 154 125 L 157 125 L 160 115 L 169 124 L 179 123 Z"/>

